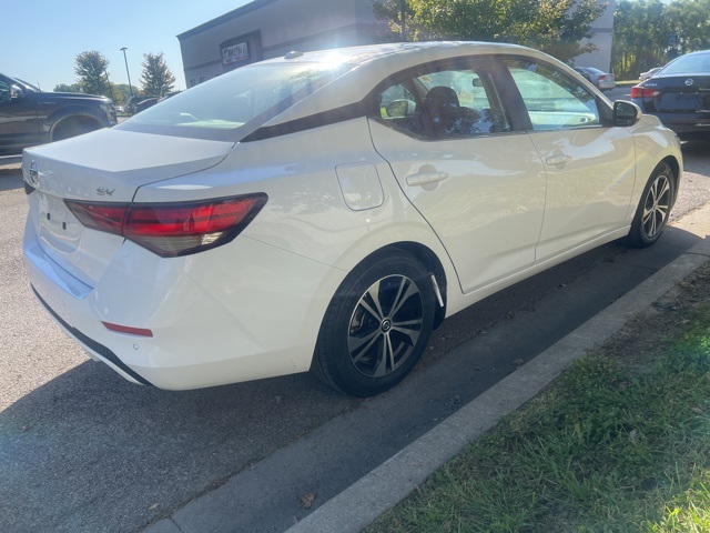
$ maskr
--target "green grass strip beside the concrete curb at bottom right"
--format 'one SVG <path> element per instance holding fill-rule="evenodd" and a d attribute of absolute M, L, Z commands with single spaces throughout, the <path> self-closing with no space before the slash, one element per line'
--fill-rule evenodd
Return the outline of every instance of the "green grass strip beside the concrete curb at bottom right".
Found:
<path fill-rule="evenodd" d="M 710 308 L 575 363 L 367 531 L 710 532 Z"/>

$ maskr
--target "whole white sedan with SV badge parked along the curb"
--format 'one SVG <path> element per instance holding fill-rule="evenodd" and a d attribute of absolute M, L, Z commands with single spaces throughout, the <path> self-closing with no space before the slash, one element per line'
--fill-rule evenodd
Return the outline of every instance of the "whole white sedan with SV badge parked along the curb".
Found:
<path fill-rule="evenodd" d="M 619 238 L 652 244 L 676 135 L 527 48 L 286 57 L 26 150 L 49 313 L 135 383 L 404 379 L 446 316 Z"/>

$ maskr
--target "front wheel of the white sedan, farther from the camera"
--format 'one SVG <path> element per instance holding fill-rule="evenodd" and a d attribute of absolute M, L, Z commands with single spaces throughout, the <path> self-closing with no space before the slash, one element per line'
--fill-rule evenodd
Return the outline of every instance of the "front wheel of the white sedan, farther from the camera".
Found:
<path fill-rule="evenodd" d="M 643 189 L 641 201 L 631 223 L 627 242 L 635 248 L 647 248 L 661 237 L 668 225 L 676 193 L 676 175 L 668 163 L 653 169 Z"/>

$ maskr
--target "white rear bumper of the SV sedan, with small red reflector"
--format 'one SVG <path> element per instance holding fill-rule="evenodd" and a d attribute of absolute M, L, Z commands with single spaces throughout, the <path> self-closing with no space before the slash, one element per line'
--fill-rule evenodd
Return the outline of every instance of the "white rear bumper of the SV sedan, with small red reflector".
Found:
<path fill-rule="evenodd" d="M 232 243 L 236 250 L 223 253 L 266 257 L 272 266 L 291 268 L 295 279 L 284 278 L 282 269 L 281 276 L 272 276 L 266 263 L 257 266 L 261 279 L 253 271 L 230 279 L 212 268 L 207 276 L 221 280 L 215 289 L 191 275 L 193 257 L 187 268 L 172 260 L 172 272 L 168 263 L 159 271 L 149 269 L 145 280 L 125 271 L 125 264 L 111 268 L 92 288 L 44 254 L 31 224 L 26 227 L 24 264 L 37 296 L 62 330 L 92 359 L 133 383 L 189 390 L 308 370 L 324 311 L 318 306 L 328 303 L 314 304 L 314 294 L 332 269 L 242 241 L 244 247 Z M 125 260 L 150 254 L 130 242 L 125 247 Z M 226 269 L 235 264 L 233 257 L 215 259 Z M 152 336 L 111 331 L 104 322 L 146 329 Z M 264 322 L 268 328 L 258 331 L 256 324 Z"/>

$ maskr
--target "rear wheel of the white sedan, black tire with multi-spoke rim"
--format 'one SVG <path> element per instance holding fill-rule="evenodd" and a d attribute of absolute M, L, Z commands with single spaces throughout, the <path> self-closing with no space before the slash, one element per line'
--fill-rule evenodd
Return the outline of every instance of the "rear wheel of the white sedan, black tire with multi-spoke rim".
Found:
<path fill-rule="evenodd" d="M 393 388 L 424 353 L 435 304 L 429 274 L 412 254 L 376 254 L 353 270 L 333 298 L 321 325 L 314 372 L 353 396 Z"/>

